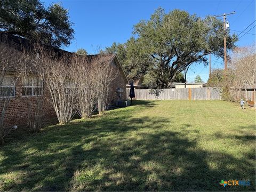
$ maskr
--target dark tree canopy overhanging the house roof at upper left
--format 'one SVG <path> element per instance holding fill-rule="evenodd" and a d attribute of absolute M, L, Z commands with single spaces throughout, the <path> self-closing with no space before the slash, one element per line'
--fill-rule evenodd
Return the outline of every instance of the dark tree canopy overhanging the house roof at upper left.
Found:
<path fill-rule="evenodd" d="M 39 0 L 0 1 L 0 30 L 6 33 L 60 47 L 73 39 L 72 25 L 60 4 L 46 8 Z"/>

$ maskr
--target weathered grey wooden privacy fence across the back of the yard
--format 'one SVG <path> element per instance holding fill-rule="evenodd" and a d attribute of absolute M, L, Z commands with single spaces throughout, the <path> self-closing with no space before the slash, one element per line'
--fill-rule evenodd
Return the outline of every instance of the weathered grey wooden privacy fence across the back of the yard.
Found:
<path fill-rule="evenodd" d="M 162 89 L 156 94 L 156 90 L 135 89 L 135 98 L 138 100 L 220 100 L 220 92 L 217 88 L 198 87 L 181 89 Z M 130 88 L 126 88 L 126 96 L 129 98 Z"/>

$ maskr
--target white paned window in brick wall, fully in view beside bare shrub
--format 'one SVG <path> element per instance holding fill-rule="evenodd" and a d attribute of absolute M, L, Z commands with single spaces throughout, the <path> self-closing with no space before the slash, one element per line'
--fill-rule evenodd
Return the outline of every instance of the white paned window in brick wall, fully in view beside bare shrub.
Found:
<path fill-rule="evenodd" d="M 38 77 L 23 78 L 22 96 L 40 96 L 43 93 L 43 82 Z"/>

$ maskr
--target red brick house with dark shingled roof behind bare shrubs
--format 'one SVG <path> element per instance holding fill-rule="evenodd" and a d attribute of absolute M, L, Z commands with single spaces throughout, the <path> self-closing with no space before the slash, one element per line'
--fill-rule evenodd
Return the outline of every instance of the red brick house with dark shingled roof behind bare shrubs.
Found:
<path fill-rule="evenodd" d="M 27 46 L 28 46 L 28 42 L 26 41 L 26 39 L 13 36 L 13 35 L 0 33 L 0 53 L 1 53 L 0 65 L 3 65 L 3 62 L 10 63 L 13 66 L 18 65 L 15 62 L 17 61 L 17 58 L 19 58 L 19 56 L 21 55 L 22 49 L 24 49 L 24 47 L 27 47 Z M 58 53 L 65 52 L 69 54 L 75 54 L 75 53 L 70 53 L 60 49 L 54 49 L 54 50 L 57 51 Z M 87 55 L 86 57 L 93 58 L 93 57 L 98 57 L 98 55 Z M 109 102 L 115 103 L 115 101 L 117 100 L 125 100 L 126 99 L 125 87 L 126 87 L 126 84 L 129 82 L 121 66 L 121 63 L 116 57 L 116 54 L 106 55 L 103 58 L 107 62 L 109 62 L 109 65 L 116 66 L 116 70 L 119 72 L 117 78 L 115 78 L 110 85 Z M 2 69 L 2 66 L 1 66 L 1 69 Z M 29 103 L 31 104 L 33 109 L 34 103 L 36 102 L 36 97 L 38 96 L 38 93 L 40 93 L 42 90 L 44 90 L 44 95 L 46 98 L 43 106 L 43 111 L 45 112 L 44 119 L 45 121 L 51 121 L 51 119 L 56 118 L 55 111 L 50 103 L 51 97 L 47 87 L 43 86 L 43 83 L 28 84 L 24 81 L 21 81 L 21 79 L 17 77 L 16 74 L 17 73 L 15 73 L 15 69 L 10 68 L 4 77 L 3 83 L 0 85 L 0 99 L 1 97 L 3 98 L 2 90 L 8 90 L 8 89 L 14 88 L 14 92 L 12 93 L 10 104 L 5 114 L 5 125 L 6 126 L 25 125 L 26 115 L 24 114 L 28 113 L 28 107 L 26 106 L 28 102 L 26 99 L 29 99 Z M 36 77 L 31 77 L 31 78 L 36 79 Z M 25 89 L 29 90 L 29 94 L 30 94 L 29 98 L 24 97 L 23 95 L 24 94 L 23 92 Z M 0 110 L 2 110 L 2 108 Z"/>

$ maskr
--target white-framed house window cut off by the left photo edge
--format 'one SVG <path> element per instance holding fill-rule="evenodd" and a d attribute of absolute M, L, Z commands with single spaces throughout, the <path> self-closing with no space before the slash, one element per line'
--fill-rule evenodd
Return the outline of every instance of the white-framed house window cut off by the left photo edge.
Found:
<path fill-rule="evenodd" d="M 15 78 L 4 77 L 0 79 L 0 97 L 15 97 Z"/>

